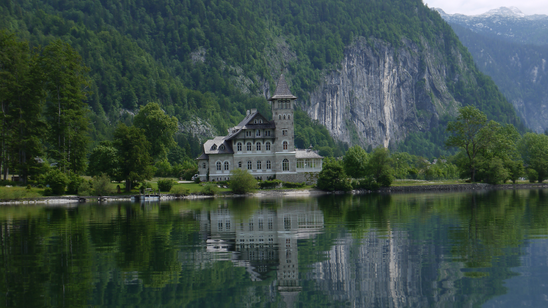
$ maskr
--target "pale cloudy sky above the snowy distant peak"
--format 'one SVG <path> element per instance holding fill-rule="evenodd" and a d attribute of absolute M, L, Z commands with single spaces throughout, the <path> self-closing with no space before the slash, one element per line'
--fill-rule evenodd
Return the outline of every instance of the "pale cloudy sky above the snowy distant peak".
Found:
<path fill-rule="evenodd" d="M 547 0 L 423 0 L 430 8 L 441 8 L 447 14 L 476 15 L 499 7 L 516 7 L 524 14 L 548 15 Z"/>

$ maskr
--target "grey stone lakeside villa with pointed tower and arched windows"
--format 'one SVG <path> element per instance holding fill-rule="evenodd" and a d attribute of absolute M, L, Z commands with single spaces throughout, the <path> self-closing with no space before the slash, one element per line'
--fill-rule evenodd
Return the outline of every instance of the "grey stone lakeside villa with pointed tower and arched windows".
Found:
<path fill-rule="evenodd" d="M 251 109 L 238 126 L 228 129 L 228 135 L 207 140 L 197 158 L 200 180 L 230 180 L 231 171 L 240 168 L 261 180 L 315 183 L 317 176 L 311 174 L 321 171 L 323 157 L 311 149 L 295 149 L 295 99 L 281 75 L 269 99 L 272 121 Z"/>

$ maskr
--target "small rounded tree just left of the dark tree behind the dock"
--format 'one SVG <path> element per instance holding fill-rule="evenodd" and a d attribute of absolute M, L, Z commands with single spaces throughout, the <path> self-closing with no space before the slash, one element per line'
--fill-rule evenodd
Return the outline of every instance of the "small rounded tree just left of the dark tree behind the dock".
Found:
<path fill-rule="evenodd" d="M 112 141 L 101 141 L 89 155 L 88 175 L 107 174 L 111 180 L 121 181 L 118 151 Z"/>

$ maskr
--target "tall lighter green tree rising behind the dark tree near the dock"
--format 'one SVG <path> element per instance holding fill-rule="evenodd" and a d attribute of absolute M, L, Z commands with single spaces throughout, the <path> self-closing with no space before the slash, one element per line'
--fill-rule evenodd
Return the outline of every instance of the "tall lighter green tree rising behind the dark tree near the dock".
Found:
<path fill-rule="evenodd" d="M 135 127 L 144 129 L 151 145 L 150 155 L 155 159 L 166 158 L 168 151 L 176 145 L 173 136 L 177 124 L 177 118 L 166 115 L 156 102 L 141 107 L 133 119 Z"/>

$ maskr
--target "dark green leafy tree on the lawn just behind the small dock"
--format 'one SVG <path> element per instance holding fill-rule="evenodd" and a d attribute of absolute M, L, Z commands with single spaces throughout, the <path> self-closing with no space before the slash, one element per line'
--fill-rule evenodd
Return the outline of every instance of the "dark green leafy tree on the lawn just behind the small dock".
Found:
<path fill-rule="evenodd" d="M 114 138 L 120 173 L 125 180 L 125 191 L 132 189 L 132 182 L 150 181 L 155 170 L 151 166 L 150 142 L 146 140 L 144 129 L 119 123 Z"/>

